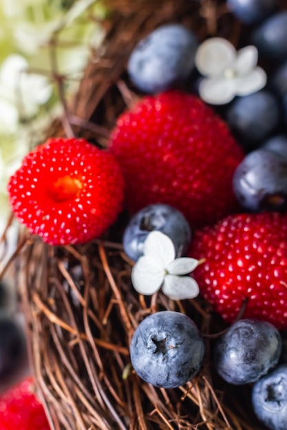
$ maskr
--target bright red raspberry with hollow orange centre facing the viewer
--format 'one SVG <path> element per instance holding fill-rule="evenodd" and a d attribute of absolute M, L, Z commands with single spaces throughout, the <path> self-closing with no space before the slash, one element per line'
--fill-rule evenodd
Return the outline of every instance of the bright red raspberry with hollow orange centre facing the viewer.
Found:
<path fill-rule="evenodd" d="M 113 155 L 84 139 L 50 139 L 30 152 L 10 178 L 14 214 L 51 245 L 83 243 L 103 234 L 123 201 Z"/>

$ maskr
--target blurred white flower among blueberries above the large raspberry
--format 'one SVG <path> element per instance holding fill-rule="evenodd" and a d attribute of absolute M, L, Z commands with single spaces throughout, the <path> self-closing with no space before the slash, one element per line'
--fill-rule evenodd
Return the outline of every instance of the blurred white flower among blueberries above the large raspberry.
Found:
<path fill-rule="evenodd" d="M 236 52 L 224 38 L 204 41 L 195 55 L 195 65 L 206 78 L 200 82 L 202 100 L 210 104 L 226 104 L 235 95 L 248 95 L 266 84 L 266 73 L 257 65 L 258 52 L 253 45 Z"/>

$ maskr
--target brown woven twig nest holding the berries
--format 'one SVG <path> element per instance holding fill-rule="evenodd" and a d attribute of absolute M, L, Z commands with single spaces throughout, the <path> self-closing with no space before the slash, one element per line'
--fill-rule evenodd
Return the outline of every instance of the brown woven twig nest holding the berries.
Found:
<path fill-rule="evenodd" d="M 200 41 L 222 36 L 235 46 L 246 37 L 224 1 L 109 0 L 106 5 L 103 45 L 50 135 L 73 133 L 107 146 L 118 115 L 141 96 L 127 78 L 127 58 L 158 25 L 184 23 Z M 131 262 L 121 245 L 126 221 L 123 214 L 103 238 L 81 246 L 51 247 L 27 231 L 20 238 L 17 284 L 36 389 L 51 429 L 263 429 L 251 409 L 251 387 L 223 383 L 213 369 L 213 342 L 225 326 L 211 306 L 201 297 L 173 302 L 162 293 L 143 297 L 132 288 Z M 165 309 L 189 315 L 206 343 L 202 370 L 178 389 L 140 380 L 129 358 L 140 321 Z"/>

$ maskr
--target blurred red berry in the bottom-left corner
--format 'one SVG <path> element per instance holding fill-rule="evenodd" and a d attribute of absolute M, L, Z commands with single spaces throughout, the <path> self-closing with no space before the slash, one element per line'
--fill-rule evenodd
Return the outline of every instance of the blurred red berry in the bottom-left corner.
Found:
<path fill-rule="evenodd" d="M 32 389 L 32 378 L 25 378 L 0 396 L 0 430 L 50 430 Z"/>

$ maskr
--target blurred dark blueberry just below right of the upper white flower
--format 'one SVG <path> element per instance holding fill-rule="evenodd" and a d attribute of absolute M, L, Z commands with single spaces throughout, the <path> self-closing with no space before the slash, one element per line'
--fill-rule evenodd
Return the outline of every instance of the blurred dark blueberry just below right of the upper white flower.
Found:
<path fill-rule="evenodd" d="M 265 139 L 279 119 L 277 98 L 266 90 L 237 98 L 226 112 L 226 120 L 243 146 L 258 144 Z"/>

